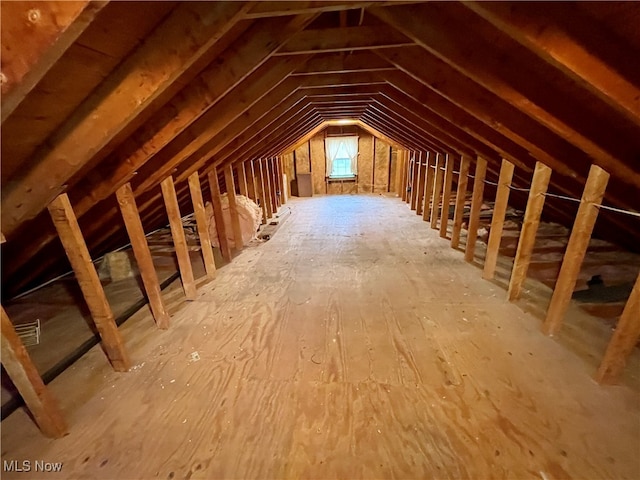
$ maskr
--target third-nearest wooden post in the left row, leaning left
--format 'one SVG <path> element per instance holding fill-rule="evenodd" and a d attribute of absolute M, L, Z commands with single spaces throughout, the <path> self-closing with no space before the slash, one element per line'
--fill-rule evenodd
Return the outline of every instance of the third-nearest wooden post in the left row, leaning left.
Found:
<path fill-rule="evenodd" d="M 140 220 L 140 214 L 138 213 L 138 207 L 136 206 L 131 184 L 125 183 L 116 190 L 116 198 L 118 199 L 118 206 L 120 207 L 120 213 L 124 220 L 124 226 L 127 229 L 129 240 L 131 240 L 131 248 L 133 255 L 136 257 L 138 269 L 140 270 L 144 291 L 149 299 L 151 313 L 158 328 L 163 330 L 167 329 L 169 328 L 169 314 L 162 300 L 160 282 L 158 281 L 158 275 L 153 265 L 153 258 L 149 251 L 147 237 L 144 235 L 142 220 Z"/>

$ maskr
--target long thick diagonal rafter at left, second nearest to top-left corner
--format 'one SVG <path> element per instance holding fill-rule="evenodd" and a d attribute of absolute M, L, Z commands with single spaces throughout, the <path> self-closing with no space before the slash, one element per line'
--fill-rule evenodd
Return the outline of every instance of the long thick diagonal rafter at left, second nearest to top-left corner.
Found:
<path fill-rule="evenodd" d="M 235 2 L 178 5 L 40 147 L 32 168 L 3 188 L 5 235 L 38 214 L 74 174 L 226 33 L 244 8 L 245 4 Z"/>

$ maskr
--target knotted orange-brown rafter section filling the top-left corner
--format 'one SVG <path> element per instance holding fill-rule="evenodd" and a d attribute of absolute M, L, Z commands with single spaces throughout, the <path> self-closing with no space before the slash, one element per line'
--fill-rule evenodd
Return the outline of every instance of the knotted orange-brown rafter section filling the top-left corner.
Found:
<path fill-rule="evenodd" d="M 82 0 L 2 5 L 2 122 L 107 3 Z"/>

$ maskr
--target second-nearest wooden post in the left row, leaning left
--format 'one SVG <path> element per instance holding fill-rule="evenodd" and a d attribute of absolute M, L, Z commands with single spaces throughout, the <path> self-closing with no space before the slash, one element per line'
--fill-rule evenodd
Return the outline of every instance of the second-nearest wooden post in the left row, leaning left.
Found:
<path fill-rule="evenodd" d="M 82 237 L 78 220 L 71 208 L 67 194 L 58 195 L 49 204 L 48 209 L 82 290 L 84 300 L 91 312 L 91 317 L 100 333 L 102 347 L 114 370 L 126 372 L 130 366 L 129 355 L 124 348 L 113 312 L 102 289 L 98 272 L 91 262 L 89 250 Z"/>

